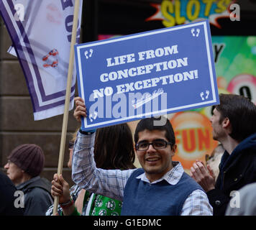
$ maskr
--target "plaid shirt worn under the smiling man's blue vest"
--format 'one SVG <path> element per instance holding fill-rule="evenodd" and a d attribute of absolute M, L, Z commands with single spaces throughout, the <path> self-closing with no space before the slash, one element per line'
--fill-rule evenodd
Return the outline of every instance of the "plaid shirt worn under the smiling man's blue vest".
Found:
<path fill-rule="evenodd" d="M 96 167 L 93 157 L 93 144 L 95 133 L 84 135 L 78 132 L 73 148 L 72 178 L 81 188 L 92 193 L 105 195 L 109 198 L 122 201 L 124 187 L 134 170 L 102 170 Z M 163 178 L 152 183 L 166 180 L 170 185 L 175 185 L 183 175 L 183 167 L 180 162 L 173 162 L 173 169 L 167 172 Z M 145 172 L 137 179 L 147 183 Z M 202 190 L 194 190 L 183 204 L 181 216 L 212 216 L 213 209 L 209 204 L 206 193 Z"/>

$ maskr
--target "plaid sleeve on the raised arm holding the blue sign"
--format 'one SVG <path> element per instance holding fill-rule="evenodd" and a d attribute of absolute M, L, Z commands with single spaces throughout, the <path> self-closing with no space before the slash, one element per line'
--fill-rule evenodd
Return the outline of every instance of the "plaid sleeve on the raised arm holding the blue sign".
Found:
<path fill-rule="evenodd" d="M 95 133 L 78 132 L 73 147 L 72 179 L 91 193 L 122 201 L 124 187 L 134 170 L 102 170 L 96 167 L 93 156 Z M 136 170 L 136 169 L 135 169 Z"/>

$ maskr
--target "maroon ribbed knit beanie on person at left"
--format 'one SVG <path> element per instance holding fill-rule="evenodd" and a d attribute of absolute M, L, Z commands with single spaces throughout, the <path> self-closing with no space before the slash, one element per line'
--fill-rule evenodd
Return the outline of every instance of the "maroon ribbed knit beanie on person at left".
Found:
<path fill-rule="evenodd" d="M 45 165 L 45 155 L 37 144 L 21 144 L 12 150 L 8 159 L 27 174 L 40 175 Z"/>

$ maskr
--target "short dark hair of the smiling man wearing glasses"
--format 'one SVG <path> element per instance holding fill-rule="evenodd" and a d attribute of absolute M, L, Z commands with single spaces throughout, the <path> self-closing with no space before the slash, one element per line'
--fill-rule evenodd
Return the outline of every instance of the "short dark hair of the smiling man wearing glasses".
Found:
<path fill-rule="evenodd" d="M 160 117 L 150 117 L 146 119 L 140 120 L 140 122 L 137 124 L 137 127 L 134 132 L 134 142 L 137 144 L 139 139 L 139 132 L 144 131 L 145 129 L 149 131 L 153 130 L 164 130 L 165 131 L 165 137 L 168 139 L 169 142 L 172 142 L 175 144 L 175 134 L 173 131 L 173 126 L 170 124 L 170 121 L 166 119 L 164 116 Z"/>

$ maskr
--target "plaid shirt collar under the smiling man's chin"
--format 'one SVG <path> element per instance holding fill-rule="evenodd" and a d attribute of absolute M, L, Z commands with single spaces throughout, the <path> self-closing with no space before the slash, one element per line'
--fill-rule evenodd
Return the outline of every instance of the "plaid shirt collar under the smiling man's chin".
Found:
<path fill-rule="evenodd" d="M 175 185 L 179 182 L 181 176 L 183 175 L 183 172 L 184 170 L 180 162 L 173 161 L 173 168 L 170 171 L 166 172 L 162 178 L 155 180 L 151 184 L 158 183 L 161 180 L 166 180 L 170 185 Z M 143 172 L 141 175 L 138 175 L 137 179 L 150 183 L 150 180 L 147 179 L 145 172 Z"/>

